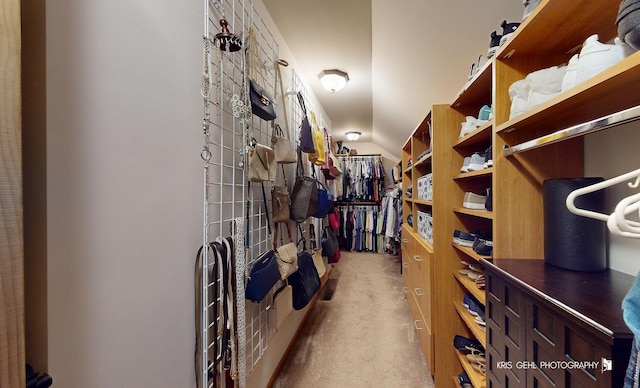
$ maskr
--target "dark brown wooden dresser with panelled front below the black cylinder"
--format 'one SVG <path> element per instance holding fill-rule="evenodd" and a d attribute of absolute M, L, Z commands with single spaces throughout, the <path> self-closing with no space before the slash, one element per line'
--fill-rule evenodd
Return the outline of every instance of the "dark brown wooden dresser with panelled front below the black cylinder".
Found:
<path fill-rule="evenodd" d="M 633 276 L 536 259 L 481 261 L 489 387 L 623 385 L 633 334 L 621 304 Z"/>

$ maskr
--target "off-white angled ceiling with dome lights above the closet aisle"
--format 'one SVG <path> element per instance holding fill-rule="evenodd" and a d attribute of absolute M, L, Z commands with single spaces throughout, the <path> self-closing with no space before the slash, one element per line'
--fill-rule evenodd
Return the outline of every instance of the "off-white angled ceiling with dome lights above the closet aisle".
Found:
<path fill-rule="evenodd" d="M 335 140 L 359 131 L 392 155 L 433 104 L 453 101 L 469 67 L 486 55 L 503 20 L 519 22 L 520 0 L 263 0 Z M 338 93 L 322 89 L 324 69 L 349 74 Z M 487 101 L 490 103 L 490 101 Z M 345 145 L 349 146 L 348 143 Z"/>

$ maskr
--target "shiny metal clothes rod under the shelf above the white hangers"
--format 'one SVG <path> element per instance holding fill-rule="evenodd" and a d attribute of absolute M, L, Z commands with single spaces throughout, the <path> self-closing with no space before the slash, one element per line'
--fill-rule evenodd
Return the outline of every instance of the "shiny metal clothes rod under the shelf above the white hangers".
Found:
<path fill-rule="evenodd" d="M 517 144 L 511 147 L 505 146 L 503 154 L 504 156 L 511 156 L 519 152 L 529 151 L 535 148 L 572 139 L 577 136 L 583 136 L 618 125 L 630 123 L 636 120 L 640 120 L 640 105 L 622 110 L 620 112 L 612 113 L 608 116 L 600 117 L 586 123 L 577 124 L 569 128 L 561 129 L 549 135 L 529 140 L 521 144 Z"/>

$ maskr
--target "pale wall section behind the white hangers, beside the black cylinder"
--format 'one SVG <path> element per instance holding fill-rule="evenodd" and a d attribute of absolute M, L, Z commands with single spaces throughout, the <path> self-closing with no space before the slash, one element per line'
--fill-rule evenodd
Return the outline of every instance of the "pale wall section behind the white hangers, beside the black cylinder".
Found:
<path fill-rule="evenodd" d="M 609 179 L 640 168 L 640 153 L 637 149 L 639 139 L 637 123 L 588 135 L 585 138 L 585 176 L 601 176 Z M 637 188 L 629 188 L 625 183 L 605 189 L 606 211 L 613 212 L 620 200 L 636 193 L 638 193 Z M 609 267 L 635 276 L 640 270 L 640 260 L 638 260 L 640 239 L 607 234 L 609 236 Z"/>

